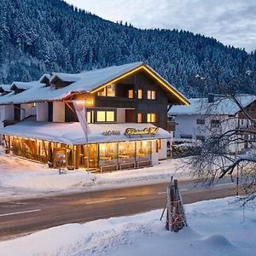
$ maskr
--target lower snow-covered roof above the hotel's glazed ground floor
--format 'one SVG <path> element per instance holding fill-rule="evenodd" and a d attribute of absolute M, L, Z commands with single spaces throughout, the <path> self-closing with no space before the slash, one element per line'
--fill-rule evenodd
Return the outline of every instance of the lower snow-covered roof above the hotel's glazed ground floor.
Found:
<path fill-rule="evenodd" d="M 161 128 L 155 135 L 125 136 L 126 128 L 143 130 L 144 128 L 156 127 L 151 124 L 89 124 L 89 143 L 111 143 L 122 141 L 136 141 L 145 139 L 170 138 L 172 135 Z M 103 135 L 103 131 L 120 131 L 119 135 Z M 15 125 L 9 125 L 0 129 L 0 134 L 29 137 L 56 143 L 79 145 L 86 143 L 84 132 L 79 122 L 75 123 L 50 123 L 23 121 Z"/>

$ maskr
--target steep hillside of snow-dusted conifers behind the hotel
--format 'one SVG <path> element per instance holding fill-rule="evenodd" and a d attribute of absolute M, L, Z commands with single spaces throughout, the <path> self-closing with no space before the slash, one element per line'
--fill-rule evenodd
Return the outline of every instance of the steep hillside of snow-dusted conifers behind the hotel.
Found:
<path fill-rule="evenodd" d="M 61 0 L 0 0 L 0 82 L 38 79 L 43 73 L 144 61 L 186 96 L 216 92 L 196 74 L 215 80 L 256 69 L 256 55 L 214 38 L 177 30 L 141 30 L 102 20 Z M 241 92 L 253 92 L 247 85 Z"/>

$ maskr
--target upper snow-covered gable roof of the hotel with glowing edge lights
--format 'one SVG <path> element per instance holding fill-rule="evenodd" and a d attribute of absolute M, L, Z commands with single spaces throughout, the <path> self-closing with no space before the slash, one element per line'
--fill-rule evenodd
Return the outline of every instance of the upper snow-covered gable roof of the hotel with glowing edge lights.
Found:
<path fill-rule="evenodd" d="M 153 76 L 154 79 L 157 79 L 163 86 L 163 89 L 166 90 L 169 95 L 172 95 L 179 104 L 189 104 L 189 101 L 185 96 L 183 96 L 179 91 L 172 87 L 171 84 L 161 78 L 158 73 L 155 73 L 153 69 L 145 65 L 143 62 L 105 67 L 77 74 L 53 73 L 50 79 L 51 83 L 55 79 L 61 79 L 61 81 L 70 82 L 72 84 L 59 89 L 55 89 L 52 86 L 32 86 L 32 89 L 21 92 L 13 98 L 9 98 L 9 102 L 0 98 L 0 104 L 57 101 L 63 100 L 74 93 L 94 93 L 97 90 L 101 90 L 104 86 L 114 83 L 131 73 L 137 72 L 138 70 L 144 70 Z M 37 83 L 40 84 L 38 81 Z"/>

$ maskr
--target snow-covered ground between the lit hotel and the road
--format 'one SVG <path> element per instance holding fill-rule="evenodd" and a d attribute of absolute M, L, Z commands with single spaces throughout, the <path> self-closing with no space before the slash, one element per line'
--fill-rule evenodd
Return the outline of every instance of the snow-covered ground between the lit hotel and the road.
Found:
<path fill-rule="evenodd" d="M 119 172 L 91 174 L 84 170 L 65 171 L 49 169 L 45 165 L 22 160 L 0 151 L 0 201 L 70 193 L 75 190 L 97 190 L 169 181 L 171 176 L 189 178 L 189 170 L 178 169 L 182 160 L 163 160 L 153 167 Z M 32 192 L 32 193 L 31 193 Z"/>

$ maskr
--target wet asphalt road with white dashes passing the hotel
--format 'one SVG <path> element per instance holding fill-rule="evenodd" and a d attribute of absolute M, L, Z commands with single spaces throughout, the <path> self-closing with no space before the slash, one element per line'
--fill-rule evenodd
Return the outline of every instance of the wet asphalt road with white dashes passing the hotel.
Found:
<path fill-rule="evenodd" d="M 211 190 L 194 188 L 192 181 L 178 183 L 184 203 L 236 194 L 235 185 L 223 181 Z M 167 183 L 48 196 L 0 203 L 0 239 L 30 234 L 56 225 L 84 223 L 147 212 L 166 205 Z"/>

